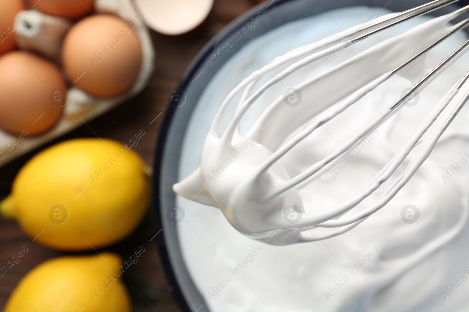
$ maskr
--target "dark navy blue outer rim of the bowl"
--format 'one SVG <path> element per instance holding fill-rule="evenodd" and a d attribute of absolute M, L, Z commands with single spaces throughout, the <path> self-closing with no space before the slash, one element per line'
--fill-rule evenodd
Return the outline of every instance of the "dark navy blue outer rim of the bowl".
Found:
<path fill-rule="evenodd" d="M 165 239 L 165 234 L 163 231 L 163 223 L 164 223 L 164 220 L 163 220 L 163 217 L 162 217 L 162 205 L 161 205 L 161 201 L 162 199 L 160 198 L 160 196 L 163 195 L 164 193 L 164 190 L 161 189 L 163 185 L 163 183 L 165 181 L 162 181 L 162 171 L 164 170 L 163 169 L 163 162 L 164 162 L 164 153 L 165 153 L 165 148 L 166 148 L 166 144 L 168 144 L 168 134 L 171 130 L 171 127 L 172 127 L 172 123 L 174 121 L 174 116 L 176 114 L 176 112 L 178 111 L 178 109 L 181 109 L 183 107 L 183 104 L 181 106 L 179 105 L 174 105 L 175 104 L 175 101 L 178 101 L 179 100 L 179 97 L 180 97 L 180 94 L 181 94 L 181 97 L 182 95 L 184 95 L 184 99 L 186 99 L 185 97 L 187 96 L 184 92 L 184 90 L 187 90 L 187 88 L 195 81 L 197 80 L 197 78 L 202 74 L 200 73 L 200 70 L 202 67 L 204 67 L 204 63 L 205 63 L 205 67 L 206 66 L 206 63 L 207 63 L 207 60 L 209 60 L 208 62 L 214 62 L 217 58 L 215 58 L 214 56 L 214 52 L 217 51 L 217 49 L 219 49 L 221 46 L 222 46 L 222 43 L 225 42 L 225 40 L 229 39 L 229 38 L 233 38 L 233 35 L 234 34 L 237 34 L 237 32 L 242 29 L 242 27 L 244 25 L 246 25 L 248 22 L 252 22 L 251 19 L 255 18 L 256 15 L 258 16 L 258 14 L 262 14 L 262 15 L 265 15 L 265 14 L 268 14 L 269 12 L 272 12 L 274 10 L 279 10 L 281 9 L 282 6 L 285 6 L 285 5 L 292 5 L 294 3 L 296 3 L 299 7 L 302 7 L 304 5 L 308 5 L 309 4 L 312 4 L 312 5 L 317 5 L 317 8 L 316 8 L 316 12 L 311 14 L 310 12 L 304 12 L 304 13 L 295 13 L 295 16 L 292 17 L 292 16 L 282 16 L 282 17 L 279 17 L 279 15 L 277 15 L 277 19 L 278 20 L 275 20 L 275 17 L 272 21 L 269 21 L 267 22 L 268 26 L 267 26 L 267 29 L 263 29 L 261 30 L 261 32 L 255 36 L 251 36 L 250 38 L 248 38 L 246 41 L 244 41 L 242 44 L 239 44 L 238 47 L 236 49 L 234 49 L 234 51 L 232 51 L 232 53 L 230 55 L 227 56 L 227 58 L 223 58 L 220 60 L 222 60 L 222 62 L 220 62 L 219 64 L 217 64 L 215 66 L 215 70 L 212 71 L 211 74 L 209 74 L 208 78 L 206 78 L 204 81 L 205 82 L 208 82 L 212 79 L 212 77 L 214 76 L 214 74 L 218 71 L 218 69 L 226 63 L 226 61 L 231 58 L 237 51 L 239 51 L 242 46 L 244 44 L 247 44 L 250 40 L 256 38 L 257 36 L 260 36 L 262 34 L 264 34 L 265 32 L 273 29 L 274 27 L 278 27 L 286 22 L 291 22 L 291 21 L 294 21 L 294 20 L 297 20 L 297 19 L 300 19 L 300 18 L 304 18 L 304 17 L 308 17 L 308 16 L 313 16 L 313 15 L 316 15 L 316 14 L 319 14 L 319 13 L 323 13 L 323 12 L 326 12 L 330 9 L 333 9 L 333 8 L 340 8 L 340 7 L 351 7 L 351 6 L 356 6 L 356 5 L 364 5 L 364 6 L 373 6 L 373 7 L 384 7 L 386 5 L 386 2 L 388 2 L 388 0 L 341 0 L 340 1 L 340 4 L 332 4 L 332 8 L 331 8 L 331 4 L 330 3 L 327 3 L 329 1 L 327 0 L 266 0 L 265 2 L 262 2 L 260 3 L 259 5 L 251 8 L 249 11 L 245 12 L 244 14 L 240 15 L 239 17 L 237 17 L 234 21 L 230 22 L 227 26 L 225 26 L 223 29 L 221 29 L 205 46 L 204 48 L 197 54 L 197 56 L 194 58 L 194 60 L 191 62 L 191 64 L 188 66 L 187 70 L 185 71 L 185 73 L 182 75 L 182 78 L 179 82 L 179 85 L 178 87 L 176 88 L 176 90 L 173 92 L 173 95 L 171 97 L 171 100 L 169 101 L 169 105 L 168 105 L 168 110 L 166 112 L 166 115 L 164 117 L 164 121 L 162 123 L 162 126 L 160 128 L 160 132 L 159 132 L 159 137 L 158 137 L 158 140 L 157 140 L 157 145 L 156 145 L 156 150 L 155 150 L 155 160 L 154 160 L 154 174 L 153 174 L 153 193 L 154 193 L 154 196 L 152 198 L 152 208 L 153 208 L 153 225 L 154 225 L 154 233 L 155 233 L 155 241 L 156 241 L 156 244 L 158 245 L 159 247 L 159 252 L 160 252 L 160 255 L 161 255 L 161 259 L 162 259 L 162 262 L 163 262 L 163 266 L 165 268 L 165 272 L 166 272 L 166 278 L 168 280 L 168 283 L 170 284 L 170 287 L 172 288 L 172 292 L 174 294 L 174 297 L 176 298 L 177 300 L 177 303 L 179 304 L 181 310 L 183 312 L 203 312 L 203 311 L 209 311 L 205 305 L 205 302 L 204 302 L 204 298 L 200 295 L 200 300 L 201 302 L 204 303 L 203 307 L 200 307 L 199 310 L 195 310 L 195 309 L 191 309 L 189 307 L 189 303 L 187 301 L 187 298 L 184 296 L 183 292 L 182 292 L 182 289 L 181 289 L 181 285 L 180 283 L 178 282 L 178 279 L 176 277 L 176 274 L 175 274 L 175 269 L 173 267 L 173 263 L 170 259 L 170 255 L 169 255 L 169 252 L 168 252 L 168 246 L 167 246 L 167 242 L 166 242 L 166 239 Z M 332 2 L 336 2 L 336 1 L 332 1 Z M 337 1 L 339 2 L 339 1 Z M 394 3 L 393 3 L 394 2 Z M 403 4 L 403 2 L 405 2 L 405 4 Z M 390 10 L 392 11 L 398 11 L 398 10 L 404 10 L 404 9 L 407 9 L 407 8 L 410 8 L 410 7 L 415 7 L 415 6 L 418 6 L 418 5 L 421 5 L 421 4 L 424 4 L 424 3 L 427 3 L 428 1 L 424 1 L 424 0 L 394 0 L 394 1 L 391 1 L 388 3 L 388 5 L 386 5 L 387 8 L 389 8 Z M 467 0 L 461 0 L 459 2 L 456 3 L 456 5 L 459 5 L 459 7 L 461 7 L 463 4 L 464 5 L 467 5 L 469 1 Z M 321 6 L 320 4 L 322 4 L 323 6 Z M 452 6 L 448 6 L 446 7 L 449 8 L 449 7 L 452 7 Z M 290 7 L 291 8 L 291 7 Z M 445 8 L 444 8 L 445 9 Z M 444 13 L 448 13 L 449 11 L 447 10 L 444 10 Z M 441 14 L 436 14 L 436 15 L 441 15 Z M 468 16 L 465 16 L 466 18 Z M 210 17 L 209 17 L 210 18 Z M 459 22 L 459 21 L 458 21 Z M 231 40 L 231 39 L 230 39 Z M 222 54 L 224 56 L 224 54 Z M 220 54 L 219 54 L 220 56 Z M 212 58 L 212 61 L 210 61 L 210 59 Z M 201 84 L 199 86 L 199 91 L 197 96 L 200 96 L 203 92 L 203 87 L 205 86 L 206 84 Z M 174 101 L 174 97 L 175 97 L 175 101 Z M 193 102 L 195 104 L 197 104 L 197 101 L 198 101 L 198 97 L 197 97 L 197 100 L 194 100 Z M 185 102 L 185 100 L 184 100 Z M 195 104 L 191 107 L 191 109 L 194 108 Z M 185 127 L 183 127 L 184 129 L 182 129 L 181 131 L 183 131 L 185 133 Z M 179 156 L 179 155 L 178 155 Z M 175 157 L 177 159 L 176 162 L 179 161 L 179 157 Z M 177 175 L 177 173 L 176 173 Z M 173 195 L 173 197 L 175 198 L 175 195 Z M 174 200 L 172 201 L 174 203 Z M 161 233 L 160 233 L 161 232 Z M 187 270 L 187 268 L 186 268 Z M 195 288 L 195 286 L 194 286 Z"/>

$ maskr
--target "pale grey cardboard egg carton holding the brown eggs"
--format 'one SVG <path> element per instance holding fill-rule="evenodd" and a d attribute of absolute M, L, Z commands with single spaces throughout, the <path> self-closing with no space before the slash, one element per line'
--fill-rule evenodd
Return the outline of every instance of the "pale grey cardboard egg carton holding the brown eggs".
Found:
<path fill-rule="evenodd" d="M 50 131 L 40 136 L 29 137 L 28 135 L 15 136 L 0 130 L 0 167 L 104 114 L 142 92 L 148 84 L 153 71 L 155 51 L 150 31 L 142 22 L 142 17 L 137 13 L 131 0 L 96 0 L 95 11 L 98 14 L 106 13 L 120 16 L 138 26 L 136 33 L 142 44 L 143 58 L 141 60 L 142 68 L 134 86 L 125 94 L 107 99 L 98 99 L 77 87 L 71 87 L 68 89 L 68 102 L 64 106 L 63 116 Z M 33 9 L 20 12 L 17 17 L 20 16 L 23 17 L 23 21 L 15 30 L 18 47 L 59 60 L 63 38 L 73 23 Z"/>

